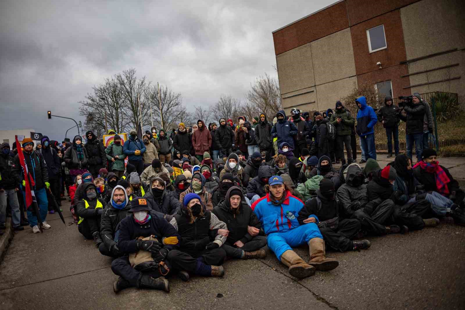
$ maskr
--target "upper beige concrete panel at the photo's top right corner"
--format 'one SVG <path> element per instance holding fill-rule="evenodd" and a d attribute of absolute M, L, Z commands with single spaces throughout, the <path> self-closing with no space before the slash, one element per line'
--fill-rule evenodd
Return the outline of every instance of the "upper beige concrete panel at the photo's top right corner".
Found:
<path fill-rule="evenodd" d="M 464 0 L 423 0 L 401 8 L 407 59 L 465 48 L 464 11 Z"/>

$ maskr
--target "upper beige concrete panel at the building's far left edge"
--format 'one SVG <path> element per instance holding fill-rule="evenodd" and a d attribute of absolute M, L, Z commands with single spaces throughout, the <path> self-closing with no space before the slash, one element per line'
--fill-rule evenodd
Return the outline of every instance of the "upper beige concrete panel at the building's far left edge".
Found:
<path fill-rule="evenodd" d="M 310 43 L 276 56 L 281 94 L 315 86 Z"/>

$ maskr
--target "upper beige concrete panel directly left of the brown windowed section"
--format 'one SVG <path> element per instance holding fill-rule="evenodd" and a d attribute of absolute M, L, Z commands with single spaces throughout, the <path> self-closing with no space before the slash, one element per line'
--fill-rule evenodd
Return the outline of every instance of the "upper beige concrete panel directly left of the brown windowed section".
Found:
<path fill-rule="evenodd" d="M 310 43 L 316 85 L 355 75 L 350 28 Z"/>

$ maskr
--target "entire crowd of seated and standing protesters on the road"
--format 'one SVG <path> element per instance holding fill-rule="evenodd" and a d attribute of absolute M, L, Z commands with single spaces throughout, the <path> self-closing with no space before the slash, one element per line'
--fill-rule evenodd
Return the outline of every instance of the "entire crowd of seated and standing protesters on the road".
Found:
<path fill-rule="evenodd" d="M 237 124 L 181 122 L 169 135 L 151 128 L 138 137 L 133 129 L 124 142 L 110 130 L 113 143 L 106 148 L 92 131 L 61 143 L 44 136 L 36 150 L 29 138 L 12 149 L 3 143 L 0 225 L 8 203 L 13 229 L 49 229 L 49 202 L 60 206 L 66 190 L 79 232 L 113 257 L 120 276 L 115 292 L 169 291 L 171 275 L 183 281 L 223 276 L 226 258 L 263 258 L 266 245 L 292 276 L 329 271 L 339 262 L 326 249 L 368 249 L 365 236 L 465 223 L 464 191 L 423 144 L 432 130 L 428 104 L 419 94 L 413 98 L 398 108 L 386 97 L 377 115 L 361 96 L 355 118 L 337 101 L 323 114 L 292 109 L 288 117 L 281 110 L 272 122 L 263 113 L 251 121 L 240 116 Z M 406 121 L 406 154 L 399 153 L 399 119 Z M 386 128 L 388 156 L 394 136 L 395 158 L 385 168 L 376 161 L 377 121 Z M 364 168 L 355 162 L 355 135 Z M 20 151 L 32 172 L 41 224 L 27 208 L 24 216 Z M 303 244 L 309 261 L 292 249 Z"/>

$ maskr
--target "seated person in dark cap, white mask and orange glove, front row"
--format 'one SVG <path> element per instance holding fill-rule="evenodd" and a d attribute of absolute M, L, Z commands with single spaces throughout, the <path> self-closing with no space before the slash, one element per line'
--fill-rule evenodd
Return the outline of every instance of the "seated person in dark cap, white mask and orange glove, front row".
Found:
<path fill-rule="evenodd" d="M 133 199 L 128 211 L 132 216 L 120 222 L 117 246 L 129 256 L 112 262 L 113 273 L 120 276 L 113 283 L 115 293 L 129 287 L 170 291 L 164 277 L 166 269 L 162 267 L 166 266 L 168 253 L 179 248 L 179 235 L 165 219 L 149 211 L 145 199 Z"/>

